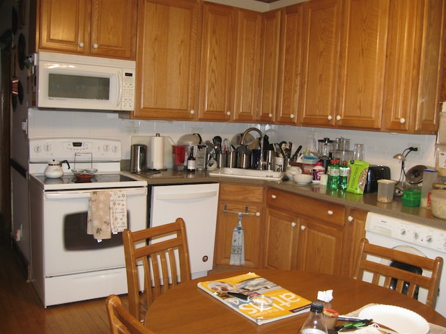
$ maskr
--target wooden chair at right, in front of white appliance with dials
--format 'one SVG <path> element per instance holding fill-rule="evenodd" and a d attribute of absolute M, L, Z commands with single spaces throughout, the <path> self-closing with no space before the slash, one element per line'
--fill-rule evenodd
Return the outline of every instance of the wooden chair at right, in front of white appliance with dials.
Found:
<path fill-rule="evenodd" d="M 386 263 L 373 262 L 367 259 L 367 255 L 420 267 L 422 270 L 431 271 L 431 277 L 422 276 L 421 273 L 414 273 L 412 271 L 390 267 L 390 265 Z M 426 305 L 430 308 L 435 308 L 442 268 L 442 257 L 436 257 L 432 260 L 429 259 L 429 257 L 369 244 L 367 239 L 362 239 L 360 244 L 360 258 L 357 262 L 355 270 L 356 274 L 353 278 L 362 279 L 364 271 L 370 272 L 373 274 L 371 283 L 383 285 L 383 287 L 387 288 L 391 287 L 392 279 L 394 281 L 396 280 L 397 283 L 394 289 L 397 292 L 405 293 L 403 292 L 403 288 L 406 285 L 406 294 L 412 298 L 414 298 L 418 286 L 424 287 L 428 290 Z"/>

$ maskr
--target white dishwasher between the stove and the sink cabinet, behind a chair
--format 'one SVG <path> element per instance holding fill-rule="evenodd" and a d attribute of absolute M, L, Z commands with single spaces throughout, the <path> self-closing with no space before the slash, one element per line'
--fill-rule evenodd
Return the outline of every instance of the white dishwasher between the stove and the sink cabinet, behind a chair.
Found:
<path fill-rule="evenodd" d="M 151 186 L 149 226 L 183 218 L 192 279 L 213 269 L 219 189 L 218 183 Z"/>

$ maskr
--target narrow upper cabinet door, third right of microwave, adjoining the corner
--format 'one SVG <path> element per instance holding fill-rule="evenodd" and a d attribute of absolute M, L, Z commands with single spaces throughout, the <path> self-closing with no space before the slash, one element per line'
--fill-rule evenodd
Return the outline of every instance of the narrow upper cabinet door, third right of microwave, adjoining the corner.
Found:
<path fill-rule="evenodd" d="M 248 122 L 257 118 L 260 33 L 261 14 L 238 10 L 236 88 L 231 120 Z"/>

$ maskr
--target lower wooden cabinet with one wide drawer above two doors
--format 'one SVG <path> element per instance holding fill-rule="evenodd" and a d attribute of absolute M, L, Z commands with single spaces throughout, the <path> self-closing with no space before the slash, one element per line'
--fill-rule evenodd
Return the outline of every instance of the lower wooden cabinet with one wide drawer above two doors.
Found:
<path fill-rule="evenodd" d="M 267 194 L 265 266 L 339 274 L 345 208 L 275 189 Z"/>

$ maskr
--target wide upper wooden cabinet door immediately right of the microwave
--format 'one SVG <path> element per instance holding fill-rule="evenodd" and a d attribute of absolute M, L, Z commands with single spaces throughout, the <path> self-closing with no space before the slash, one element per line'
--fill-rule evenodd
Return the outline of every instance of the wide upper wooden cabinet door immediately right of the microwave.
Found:
<path fill-rule="evenodd" d="M 199 1 L 139 1 L 135 118 L 196 118 L 199 8 Z"/>

